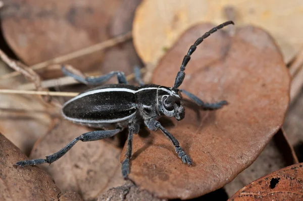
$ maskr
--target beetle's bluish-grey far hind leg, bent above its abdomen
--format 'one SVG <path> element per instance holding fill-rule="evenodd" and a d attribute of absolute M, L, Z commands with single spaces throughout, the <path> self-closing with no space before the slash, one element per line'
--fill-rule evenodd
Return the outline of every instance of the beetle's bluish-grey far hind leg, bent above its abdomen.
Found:
<path fill-rule="evenodd" d="M 78 82 L 81 82 L 81 83 L 84 83 L 84 84 L 91 84 L 91 85 L 101 84 L 103 82 L 108 81 L 110 78 L 112 78 L 114 76 L 117 76 L 118 83 L 127 84 L 126 77 L 125 77 L 124 73 L 121 72 L 121 71 L 112 71 L 112 72 L 110 72 L 106 75 L 102 75 L 102 76 L 81 77 L 77 74 L 74 74 L 74 73 L 68 71 L 63 65 L 61 67 L 61 70 L 66 76 L 73 77 Z"/>

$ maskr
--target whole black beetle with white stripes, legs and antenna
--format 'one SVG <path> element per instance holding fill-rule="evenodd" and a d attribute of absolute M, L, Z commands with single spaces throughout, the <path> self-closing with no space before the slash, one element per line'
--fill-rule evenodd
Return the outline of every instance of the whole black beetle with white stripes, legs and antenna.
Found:
<path fill-rule="evenodd" d="M 129 134 L 126 145 L 126 154 L 125 159 L 122 162 L 122 176 L 127 178 L 130 172 L 129 160 L 132 154 L 133 134 L 139 132 L 140 124 L 142 122 L 151 131 L 160 129 L 175 146 L 176 153 L 182 162 L 191 165 L 192 161 L 190 157 L 184 152 L 178 140 L 161 125 L 158 119 L 161 116 L 174 117 L 178 121 L 184 118 L 185 108 L 183 106 L 181 93 L 184 93 L 204 110 L 220 109 L 227 104 L 225 100 L 217 103 L 204 103 L 189 91 L 179 89 L 179 86 L 182 84 L 185 77 L 185 67 L 197 45 L 218 29 L 230 24 L 234 23 L 232 21 L 227 21 L 212 28 L 190 46 L 187 55 L 184 56 L 173 87 L 144 84 L 140 78 L 139 68 L 135 68 L 135 80 L 139 83 L 139 86 L 134 86 L 127 83 L 126 77 L 121 71 L 112 71 L 109 74 L 99 77 L 81 77 L 62 66 L 64 74 L 85 84 L 100 84 L 113 76 L 117 76 L 118 84 L 98 86 L 84 91 L 68 100 L 61 110 L 62 116 L 74 123 L 95 128 L 111 129 L 84 133 L 76 137 L 55 154 L 46 156 L 46 159 L 19 161 L 15 166 L 24 167 L 43 163 L 51 164 L 65 155 L 79 140 L 85 142 L 112 137 L 128 127 Z"/>

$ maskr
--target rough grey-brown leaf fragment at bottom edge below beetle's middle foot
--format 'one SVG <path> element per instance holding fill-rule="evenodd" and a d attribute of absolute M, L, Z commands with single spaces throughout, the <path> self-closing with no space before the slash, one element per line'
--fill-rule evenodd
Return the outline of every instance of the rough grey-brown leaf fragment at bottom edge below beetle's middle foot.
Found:
<path fill-rule="evenodd" d="M 148 200 L 148 201 L 166 201 L 167 199 L 160 199 L 151 195 L 146 190 L 140 190 L 131 181 L 127 181 L 124 185 L 111 188 L 101 196 L 98 197 L 98 201 L 120 201 L 120 200 Z"/>

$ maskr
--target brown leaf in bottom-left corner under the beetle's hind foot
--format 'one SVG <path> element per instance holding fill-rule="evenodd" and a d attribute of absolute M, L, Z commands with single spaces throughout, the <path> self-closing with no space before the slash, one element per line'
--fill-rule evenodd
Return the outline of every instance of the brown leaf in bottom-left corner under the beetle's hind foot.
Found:
<path fill-rule="evenodd" d="M 4 135 L 0 134 L 0 200 L 57 200 L 60 189 L 52 178 L 37 167 L 15 168 L 27 157 Z"/>

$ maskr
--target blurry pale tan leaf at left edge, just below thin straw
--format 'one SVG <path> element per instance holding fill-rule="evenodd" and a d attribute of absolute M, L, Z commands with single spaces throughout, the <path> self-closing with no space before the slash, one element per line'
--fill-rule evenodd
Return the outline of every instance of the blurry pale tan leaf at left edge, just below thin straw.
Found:
<path fill-rule="evenodd" d="M 29 154 L 36 140 L 47 132 L 51 118 L 38 97 L 0 94 L 0 132 Z"/>

